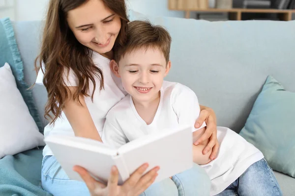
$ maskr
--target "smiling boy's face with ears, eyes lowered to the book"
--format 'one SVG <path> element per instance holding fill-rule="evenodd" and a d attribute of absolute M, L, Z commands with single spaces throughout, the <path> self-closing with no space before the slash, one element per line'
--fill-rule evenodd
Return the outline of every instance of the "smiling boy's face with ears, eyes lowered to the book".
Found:
<path fill-rule="evenodd" d="M 170 61 L 166 63 L 161 50 L 143 48 L 126 53 L 117 66 L 113 61 L 112 70 L 121 77 L 124 89 L 133 99 L 146 102 L 158 98 L 163 79 L 170 67 Z"/>

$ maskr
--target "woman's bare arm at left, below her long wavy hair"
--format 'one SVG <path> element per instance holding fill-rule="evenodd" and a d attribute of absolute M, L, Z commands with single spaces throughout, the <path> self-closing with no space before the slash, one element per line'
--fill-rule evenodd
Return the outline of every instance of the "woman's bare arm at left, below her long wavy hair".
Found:
<path fill-rule="evenodd" d="M 68 95 L 74 95 L 77 87 L 68 87 Z M 65 101 L 63 112 L 71 124 L 75 136 L 90 138 L 102 142 L 90 116 L 84 97 L 79 97 L 81 104 L 69 96 Z"/>

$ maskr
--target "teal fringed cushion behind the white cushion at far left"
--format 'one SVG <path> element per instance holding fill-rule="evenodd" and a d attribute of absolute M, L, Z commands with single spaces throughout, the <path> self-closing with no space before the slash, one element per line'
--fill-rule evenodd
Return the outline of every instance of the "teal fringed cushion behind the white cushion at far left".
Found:
<path fill-rule="evenodd" d="M 29 112 L 37 124 L 39 131 L 43 132 L 43 126 L 34 99 L 32 98 L 32 93 L 28 90 L 29 86 L 24 80 L 23 62 L 14 37 L 13 26 L 9 18 L 0 20 L 0 67 L 2 67 L 5 62 L 9 63 L 11 66 L 17 87 L 29 107 Z"/>

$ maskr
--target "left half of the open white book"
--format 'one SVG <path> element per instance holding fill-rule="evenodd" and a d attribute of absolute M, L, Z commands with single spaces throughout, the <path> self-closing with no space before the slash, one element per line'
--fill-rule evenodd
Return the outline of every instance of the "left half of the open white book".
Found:
<path fill-rule="evenodd" d="M 75 165 L 79 165 L 87 169 L 93 177 L 106 183 L 111 167 L 120 163 L 117 150 L 99 141 L 58 135 L 48 136 L 45 142 L 72 180 L 83 181 L 80 175 L 72 170 Z"/>

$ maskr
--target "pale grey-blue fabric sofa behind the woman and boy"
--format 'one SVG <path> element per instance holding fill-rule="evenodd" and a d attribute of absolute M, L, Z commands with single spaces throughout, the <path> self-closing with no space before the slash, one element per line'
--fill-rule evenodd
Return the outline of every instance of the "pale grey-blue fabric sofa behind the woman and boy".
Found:
<path fill-rule="evenodd" d="M 201 104 L 214 109 L 220 126 L 241 130 L 268 74 L 295 92 L 295 21 L 149 20 L 166 26 L 173 38 L 172 69 L 167 80 L 193 89 Z M 29 85 L 36 79 L 33 63 L 40 46 L 41 24 L 14 23 Z M 47 99 L 44 86 L 36 85 L 33 97 L 43 117 Z M 280 172 L 275 175 L 284 195 L 295 196 L 295 178 Z"/>

